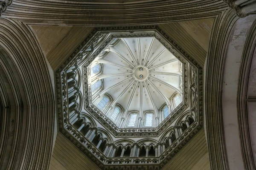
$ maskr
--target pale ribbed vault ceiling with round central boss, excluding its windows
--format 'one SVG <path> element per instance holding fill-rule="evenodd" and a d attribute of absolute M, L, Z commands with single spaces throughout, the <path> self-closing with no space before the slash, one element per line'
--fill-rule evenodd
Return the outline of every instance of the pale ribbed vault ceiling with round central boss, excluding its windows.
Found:
<path fill-rule="evenodd" d="M 159 117 L 160 109 L 171 104 L 170 98 L 182 92 L 181 63 L 154 37 L 116 39 L 94 60 L 91 70 L 97 65 L 102 72 L 91 72 L 91 84 L 100 81 L 103 88 L 92 93 L 93 104 L 98 105 L 99 96 L 109 95 L 112 101 L 102 110 L 108 115 L 118 104 L 121 117 L 131 111 L 138 112 L 137 118 L 145 111 Z"/>

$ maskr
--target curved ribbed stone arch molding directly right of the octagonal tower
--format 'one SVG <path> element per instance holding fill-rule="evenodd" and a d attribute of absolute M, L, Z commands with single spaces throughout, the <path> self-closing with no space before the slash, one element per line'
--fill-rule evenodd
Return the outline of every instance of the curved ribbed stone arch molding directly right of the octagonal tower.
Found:
<path fill-rule="evenodd" d="M 207 54 L 205 85 L 205 127 L 212 170 L 228 170 L 222 114 L 224 57 L 230 30 L 238 19 L 231 9 L 216 17 Z"/>

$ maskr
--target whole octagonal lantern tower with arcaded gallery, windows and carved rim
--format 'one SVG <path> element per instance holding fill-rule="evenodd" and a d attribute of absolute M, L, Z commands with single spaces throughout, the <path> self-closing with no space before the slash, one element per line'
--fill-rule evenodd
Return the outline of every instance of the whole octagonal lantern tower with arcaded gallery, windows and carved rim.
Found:
<path fill-rule="evenodd" d="M 202 128 L 202 68 L 157 26 L 95 28 L 55 82 L 59 131 L 102 169 L 161 169 Z"/>

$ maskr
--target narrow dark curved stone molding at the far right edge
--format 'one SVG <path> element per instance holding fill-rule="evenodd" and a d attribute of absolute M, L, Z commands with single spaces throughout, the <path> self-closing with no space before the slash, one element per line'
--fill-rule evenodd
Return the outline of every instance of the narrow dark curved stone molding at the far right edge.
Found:
<path fill-rule="evenodd" d="M 256 21 L 254 21 L 247 35 L 244 45 L 244 51 L 241 58 L 239 71 L 238 92 L 237 92 L 237 110 L 239 122 L 239 138 L 241 151 L 244 161 L 244 169 L 255 170 L 256 162 L 254 159 L 253 142 L 250 134 L 250 120 L 247 109 L 247 85 L 250 73 L 250 65 L 256 49 Z"/>

